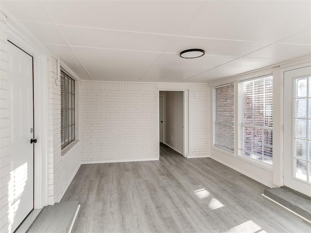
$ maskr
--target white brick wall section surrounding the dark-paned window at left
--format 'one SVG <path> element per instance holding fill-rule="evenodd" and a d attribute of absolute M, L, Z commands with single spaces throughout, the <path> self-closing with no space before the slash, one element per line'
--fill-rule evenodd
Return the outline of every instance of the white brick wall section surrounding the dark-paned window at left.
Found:
<path fill-rule="evenodd" d="M 48 203 L 59 202 L 71 180 L 81 165 L 81 144 L 77 143 L 64 156 L 61 156 L 61 96 L 60 80 L 57 78 L 57 62 L 48 58 L 49 88 L 49 150 L 48 150 Z M 78 81 L 77 81 L 78 82 Z M 78 92 L 76 92 L 78 93 Z M 78 111 L 76 111 L 78 114 Z M 78 121 L 77 121 L 78 122 Z M 76 131 L 78 132 L 78 130 Z M 76 137 L 77 138 L 77 137 Z"/>

